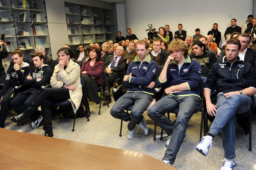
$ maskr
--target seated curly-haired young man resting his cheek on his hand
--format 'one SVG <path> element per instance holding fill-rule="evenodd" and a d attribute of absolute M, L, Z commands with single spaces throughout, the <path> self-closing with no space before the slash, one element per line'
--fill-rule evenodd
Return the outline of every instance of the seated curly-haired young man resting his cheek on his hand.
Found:
<path fill-rule="evenodd" d="M 173 165 L 188 121 L 199 107 L 202 68 L 200 63 L 190 59 L 188 46 L 184 41 L 172 40 L 169 49 L 172 55 L 166 60 L 158 78 L 159 85 L 167 87 L 164 90 L 166 96 L 148 109 L 148 116 L 170 136 L 166 142 L 163 161 Z M 173 123 L 165 113 L 176 108 L 179 108 L 179 112 Z"/>

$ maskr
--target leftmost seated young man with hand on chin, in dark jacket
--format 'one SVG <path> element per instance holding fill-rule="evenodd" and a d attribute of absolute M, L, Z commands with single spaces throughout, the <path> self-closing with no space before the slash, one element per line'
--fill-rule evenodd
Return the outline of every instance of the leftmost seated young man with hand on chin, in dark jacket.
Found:
<path fill-rule="evenodd" d="M 11 52 L 12 62 L 14 66 L 7 70 L 7 75 L 3 85 L 1 94 L 1 110 L 0 110 L 0 128 L 4 128 L 4 122 L 9 112 L 9 104 L 16 96 L 14 87 L 24 84 L 25 78 L 28 76 L 31 67 L 28 63 L 23 62 L 22 52 Z"/>

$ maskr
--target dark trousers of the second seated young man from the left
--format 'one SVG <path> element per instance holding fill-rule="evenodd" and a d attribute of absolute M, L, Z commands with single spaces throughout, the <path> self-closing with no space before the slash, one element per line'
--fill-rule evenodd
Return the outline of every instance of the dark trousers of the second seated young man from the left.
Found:
<path fill-rule="evenodd" d="M 10 106 L 16 110 L 19 114 L 24 112 L 31 103 L 39 96 L 39 89 L 30 88 L 24 92 L 18 93 L 15 99 L 10 103 Z M 33 116 L 30 117 L 33 121 L 36 121 L 40 116 L 40 112 L 35 112 Z"/>

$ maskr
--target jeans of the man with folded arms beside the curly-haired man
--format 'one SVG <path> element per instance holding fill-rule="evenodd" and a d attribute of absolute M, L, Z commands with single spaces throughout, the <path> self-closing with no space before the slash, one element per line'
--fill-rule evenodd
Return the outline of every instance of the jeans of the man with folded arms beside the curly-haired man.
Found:
<path fill-rule="evenodd" d="M 110 110 L 110 114 L 117 119 L 128 122 L 128 130 L 133 130 L 136 124 L 140 123 L 143 113 L 152 101 L 152 96 L 144 92 L 127 92 L 121 96 Z M 131 114 L 125 112 L 132 106 Z"/>

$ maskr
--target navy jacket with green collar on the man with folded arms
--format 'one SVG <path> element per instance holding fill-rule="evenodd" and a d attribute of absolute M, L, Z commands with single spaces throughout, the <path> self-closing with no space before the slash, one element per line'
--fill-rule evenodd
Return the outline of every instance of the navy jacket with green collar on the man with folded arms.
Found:
<path fill-rule="evenodd" d="M 126 75 L 132 72 L 132 77 L 129 82 L 124 82 L 127 92 L 145 92 L 153 95 L 154 89 L 147 88 L 152 81 L 156 79 L 157 63 L 151 60 L 150 55 L 146 56 L 145 62 L 141 63 L 139 56 L 135 56 L 134 61 L 128 66 Z"/>

